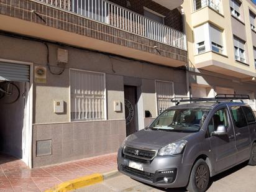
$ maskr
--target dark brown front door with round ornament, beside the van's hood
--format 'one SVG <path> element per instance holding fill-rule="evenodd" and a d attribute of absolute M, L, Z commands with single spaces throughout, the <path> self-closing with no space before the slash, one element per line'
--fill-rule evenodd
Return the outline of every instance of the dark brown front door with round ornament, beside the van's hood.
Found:
<path fill-rule="evenodd" d="M 135 86 L 124 86 L 124 106 L 126 112 L 126 135 L 133 134 L 136 131 L 137 111 L 137 91 Z"/>

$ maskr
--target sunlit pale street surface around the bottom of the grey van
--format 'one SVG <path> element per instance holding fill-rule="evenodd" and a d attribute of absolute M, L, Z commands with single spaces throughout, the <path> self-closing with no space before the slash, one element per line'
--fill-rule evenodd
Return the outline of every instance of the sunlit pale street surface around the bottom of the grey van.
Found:
<path fill-rule="evenodd" d="M 138 181 L 132 180 L 128 176 L 119 175 L 114 178 L 109 178 L 103 183 L 91 185 L 86 188 L 76 190 L 76 192 L 184 192 L 186 188 L 163 189 L 145 185 Z M 256 167 L 242 163 L 237 167 L 227 170 L 219 175 L 211 178 L 211 183 L 208 191 L 214 192 L 255 192 L 256 191 Z"/>

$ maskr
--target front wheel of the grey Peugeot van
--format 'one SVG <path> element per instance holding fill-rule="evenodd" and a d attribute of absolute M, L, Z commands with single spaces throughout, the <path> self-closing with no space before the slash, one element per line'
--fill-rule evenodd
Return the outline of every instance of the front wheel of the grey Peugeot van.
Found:
<path fill-rule="evenodd" d="M 203 159 L 199 159 L 192 168 L 190 181 L 186 189 L 190 192 L 204 192 L 210 180 L 209 167 Z"/>

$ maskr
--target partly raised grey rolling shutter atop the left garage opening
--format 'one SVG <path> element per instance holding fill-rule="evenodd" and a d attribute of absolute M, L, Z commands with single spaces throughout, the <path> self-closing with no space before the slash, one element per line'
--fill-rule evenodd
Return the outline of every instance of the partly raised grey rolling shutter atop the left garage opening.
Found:
<path fill-rule="evenodd" d="M 29 82 L 29 65 L 0 62 L 0 81 Z"/>

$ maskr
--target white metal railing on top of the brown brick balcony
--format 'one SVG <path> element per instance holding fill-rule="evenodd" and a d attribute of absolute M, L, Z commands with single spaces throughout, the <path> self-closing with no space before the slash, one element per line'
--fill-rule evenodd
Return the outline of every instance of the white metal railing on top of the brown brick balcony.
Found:
<path fill-rule="evenodd" d="M 186 35 L 104 0 L 35 0 L 102 22 L 132 34 L 186 50 Z"/>

